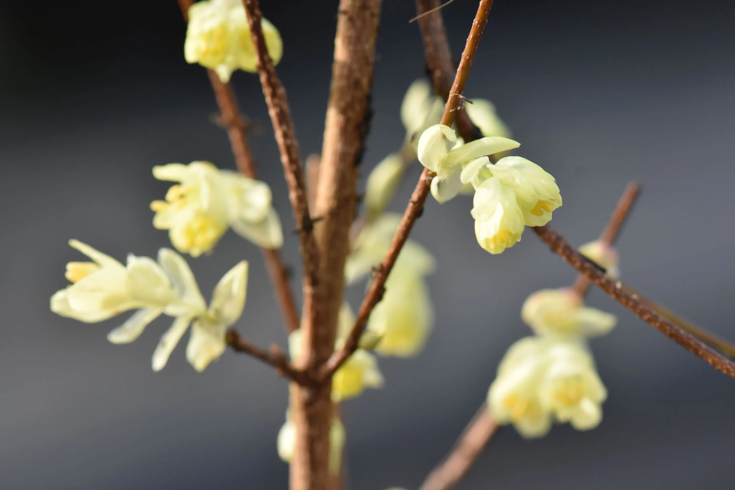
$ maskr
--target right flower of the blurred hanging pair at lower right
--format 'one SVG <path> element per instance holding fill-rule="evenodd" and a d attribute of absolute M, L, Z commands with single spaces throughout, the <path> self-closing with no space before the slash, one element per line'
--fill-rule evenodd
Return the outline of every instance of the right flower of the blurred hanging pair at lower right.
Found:
<path fill-rule="evenodd" d="M 539 400 L 556 420 L 570 422 L 576 430 L 600 425 L 607 390 L 595 370 L 595 362 L 580 342 L 556 342 L 539 382 Z"/>

